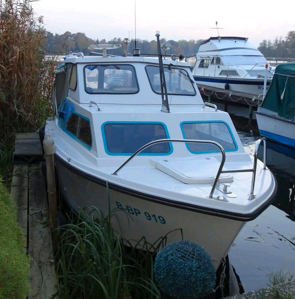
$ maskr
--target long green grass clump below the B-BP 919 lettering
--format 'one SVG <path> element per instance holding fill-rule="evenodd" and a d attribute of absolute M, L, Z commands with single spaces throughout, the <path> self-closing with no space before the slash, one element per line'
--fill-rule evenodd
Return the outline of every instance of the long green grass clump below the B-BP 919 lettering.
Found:
<path fill-rule="evenodd" d="M 60 298 L 160 298 L 153 277 L 154 254 L 126 248 L 106 216 L 95 207 L 59 228 L 56 271 Z"/>

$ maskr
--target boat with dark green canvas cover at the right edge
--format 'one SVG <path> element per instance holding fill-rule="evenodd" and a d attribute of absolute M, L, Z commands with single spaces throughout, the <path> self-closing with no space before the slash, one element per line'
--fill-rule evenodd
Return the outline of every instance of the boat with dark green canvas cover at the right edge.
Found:
<path fill-rule="evenodd" d="M 256 118 L 261 136 L 295 147 L 295 63 L 276 67 Z"/>

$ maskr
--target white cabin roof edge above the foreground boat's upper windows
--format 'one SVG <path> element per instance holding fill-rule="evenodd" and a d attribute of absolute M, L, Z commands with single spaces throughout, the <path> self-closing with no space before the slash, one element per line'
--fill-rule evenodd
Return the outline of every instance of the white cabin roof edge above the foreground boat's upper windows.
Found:
<path fill-rule="evenodd" d="M 84 57 L 68 57 L 64 61 L 65 63 L 148 63 L 148 64 L 158 64 L 159 60 L 157 57 L 101 57 L 101 56 L 84 56 Z M 184 61 L 173 61 L 168 59 L 163 59 L 163 64 L 174 64 L 175 66 L 190 67 L 187 62 Z"/>

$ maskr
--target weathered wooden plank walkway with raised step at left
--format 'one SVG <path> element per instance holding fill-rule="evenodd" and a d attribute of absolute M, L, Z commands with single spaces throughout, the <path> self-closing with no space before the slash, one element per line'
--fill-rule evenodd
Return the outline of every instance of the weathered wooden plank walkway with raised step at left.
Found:
<path fill-rule="evenodd" d="M 31 257 L 29 299 L 57 299 L 45 179 L 38 163 L 42 158 L 37 133 L 17 134 L 10 195 L 17 204 L 17 220 Z"/>

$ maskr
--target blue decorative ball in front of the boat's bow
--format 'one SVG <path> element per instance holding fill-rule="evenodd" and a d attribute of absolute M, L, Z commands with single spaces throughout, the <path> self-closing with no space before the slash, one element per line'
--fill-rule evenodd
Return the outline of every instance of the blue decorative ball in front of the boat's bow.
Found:
<path fill-rule="evenodd" d="M 212 292 L 216 273 L 205 249 L 189 241 L 175 241 L 159 251 L 155 279 L 160 289 L 178 299 L 196 299 Z"/>

